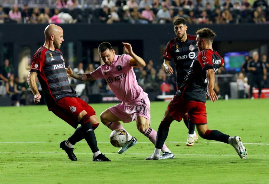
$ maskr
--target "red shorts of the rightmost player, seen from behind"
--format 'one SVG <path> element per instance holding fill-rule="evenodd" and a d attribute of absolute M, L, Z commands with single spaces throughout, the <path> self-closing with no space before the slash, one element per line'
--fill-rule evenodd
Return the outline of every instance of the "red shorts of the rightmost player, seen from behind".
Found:
<path fill-rule="evenodd" d="M 207 124 L 206 120 L 206 103 L 184 100 L 175 95 L 170 101 L 167 109 L 170 116 L 177 121 L 181 121 L 186 113 L 188 113 L 190 121 L 194 124 Z"/>

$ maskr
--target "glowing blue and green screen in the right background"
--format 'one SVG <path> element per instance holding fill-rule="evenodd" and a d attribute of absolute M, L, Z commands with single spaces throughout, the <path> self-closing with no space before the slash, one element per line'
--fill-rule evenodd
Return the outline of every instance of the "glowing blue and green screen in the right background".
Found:
<path fill-rule="evenodd" d="M 241 65 L 245 62 L 245 56 L 248 56 L 248 52 L 227 52 L 224 54 L 224 67 L 226 71 L 241 71 Z"/>

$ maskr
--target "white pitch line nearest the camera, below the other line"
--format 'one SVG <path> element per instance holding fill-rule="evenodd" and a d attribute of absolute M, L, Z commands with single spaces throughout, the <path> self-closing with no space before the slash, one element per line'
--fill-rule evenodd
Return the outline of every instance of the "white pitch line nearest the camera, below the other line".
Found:
<path fill-rule="evenodd" d="M 0 154 L 66 154 L 64 152 L 0 152 Z M 119 155 L 118 153 L 104 153 L 108 155 Z M 92 155 L 92 153 L 76 153 L 76 155 Z M 128 153 L 126 155 L 150 155 L 150 153 Z M 175 154 L 178 156 L 237 156 L 237 155 L 208 155 L 208 154 Z M 250 155 L 269 156 L 269 155 Z"/>

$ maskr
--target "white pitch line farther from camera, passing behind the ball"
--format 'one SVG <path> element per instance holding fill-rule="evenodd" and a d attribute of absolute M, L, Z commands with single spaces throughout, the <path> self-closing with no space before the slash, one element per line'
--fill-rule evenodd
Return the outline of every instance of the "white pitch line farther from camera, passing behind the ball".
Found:
<path fill-rule="evenodd" d="M 0 144 L 31 144 L 31 143 L 59 143 L 59 141 L 14 141 L 14 142 L 0 142 Z M 80 141 L 78 143 L 86 143 L 85 141 Z M 109 141 L 104 141 L 104 142 L 97 142 L 97 143 L 110 143 Z M 139 142 L 138 143 L 142 143 L 142 144 L 151 144 L 151 142 Z M 176 141 L 168 141 L 165 143 L 186 143 L 186 142 L 176 142 Z M 214 143 L 214 144 L 224 144 L 223 142 L 199 142 L 199 143 Z M 250 145 L 269 145 L 269 143 L 251 143 L 251 142 L 244 142 L 244 144 L 250 144 Z"/>

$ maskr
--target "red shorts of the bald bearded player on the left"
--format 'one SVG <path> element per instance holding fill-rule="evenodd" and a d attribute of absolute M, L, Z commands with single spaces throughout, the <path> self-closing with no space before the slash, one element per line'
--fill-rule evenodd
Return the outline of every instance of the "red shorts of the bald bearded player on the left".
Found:
<path fill-rule="evenodd" d="M 89 116 L 95 115 L 94 109 L 78 97 L 64 97 L 57 101 L 56 106 L 51 110 L 59 118 L 74 128 L 79 125 L 78 116 L 83 110 Z"/>

